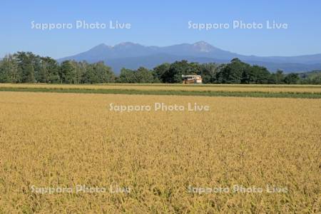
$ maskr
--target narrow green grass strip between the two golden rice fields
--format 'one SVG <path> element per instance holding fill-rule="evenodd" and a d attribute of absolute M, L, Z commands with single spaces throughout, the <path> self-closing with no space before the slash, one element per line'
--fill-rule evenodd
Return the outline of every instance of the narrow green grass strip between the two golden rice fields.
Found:
<path fill-rule="evenodd" d="M 263 92 L 263 91 L 145 91 L 131 89 L 91 89 L 91 88 L 11 88 L 0 87 L 0 91 L 51 92 L 51 93 L 113 93 L 138 95 L 175 96 L 237 96 L 261 98 L 321 98 L 321 93 L 310 92 Z"/>

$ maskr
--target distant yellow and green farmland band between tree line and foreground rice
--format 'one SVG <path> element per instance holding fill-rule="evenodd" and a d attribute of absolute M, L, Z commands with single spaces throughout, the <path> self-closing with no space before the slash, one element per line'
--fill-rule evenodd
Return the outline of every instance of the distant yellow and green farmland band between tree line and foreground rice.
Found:
<path fill-rule="evenodd" d="M 184 96 L 321 98 L 319 85 L 182 85 L 182 84 L 0 84 L 0 91 L 113 93 Z"/>

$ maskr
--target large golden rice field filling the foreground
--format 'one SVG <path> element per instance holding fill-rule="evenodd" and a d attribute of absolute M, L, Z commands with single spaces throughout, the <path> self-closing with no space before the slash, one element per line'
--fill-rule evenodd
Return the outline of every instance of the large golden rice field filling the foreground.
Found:
<path fill-rule="evenodd" d="M 321 99 L 0 92 L 0 110 L 0 213 L 321 212 Z"/>

